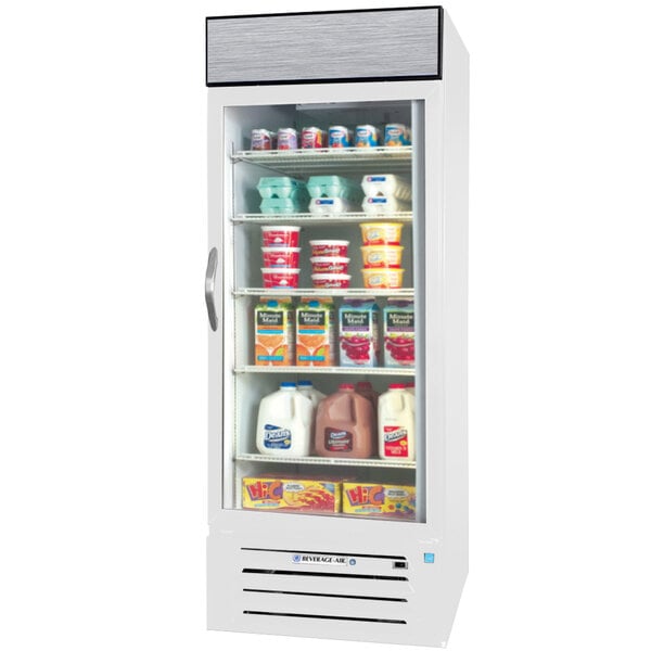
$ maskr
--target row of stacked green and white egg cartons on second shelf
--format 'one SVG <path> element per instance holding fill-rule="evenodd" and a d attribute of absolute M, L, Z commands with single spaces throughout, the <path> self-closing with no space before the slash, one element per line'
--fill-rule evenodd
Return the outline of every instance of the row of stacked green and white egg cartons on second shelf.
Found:
<path fill-rule="evenodd" d="M 361 181 L 341 176 L 312 176 L 307 182 L 263 177 L 256 188 L 264 215 L 292 215 L 306 208 L 315 215 L 356 213 L 360 208 L 370 215 L 386 215 L 411 208 L 411 184 L 393 174 L 365 175 Z"/>

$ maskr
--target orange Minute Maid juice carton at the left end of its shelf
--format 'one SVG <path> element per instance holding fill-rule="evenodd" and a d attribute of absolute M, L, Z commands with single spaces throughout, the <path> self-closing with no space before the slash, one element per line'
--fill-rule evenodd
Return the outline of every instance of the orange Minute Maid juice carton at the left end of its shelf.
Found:
<path fill-rule="evenodd" d="M 294 309 L 291 298 L 260 298 L 255 307 L 255 365 L 294 363 Z"/>

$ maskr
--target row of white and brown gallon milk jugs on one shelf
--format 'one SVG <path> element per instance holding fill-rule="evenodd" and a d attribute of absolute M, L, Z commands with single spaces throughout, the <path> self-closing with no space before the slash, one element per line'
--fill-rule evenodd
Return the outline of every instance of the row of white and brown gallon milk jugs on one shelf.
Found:
<path fill-rule="evenodd" d="M 256 447 L 270 457 L 416 459 L 413 387 L 340 384 L 326 396 L 310 381 L 282 382 L 260 400 Z"/>

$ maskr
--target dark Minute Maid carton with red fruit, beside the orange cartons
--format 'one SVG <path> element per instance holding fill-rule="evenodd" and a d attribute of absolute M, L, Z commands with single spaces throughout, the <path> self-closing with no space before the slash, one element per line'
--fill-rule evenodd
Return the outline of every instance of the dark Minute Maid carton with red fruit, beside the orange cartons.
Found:
<path fill-rule="evenodd" d="M 378 314 L 374 299 L 345 301 L 339 310 L 340 365 L 378 366 Z"/>

